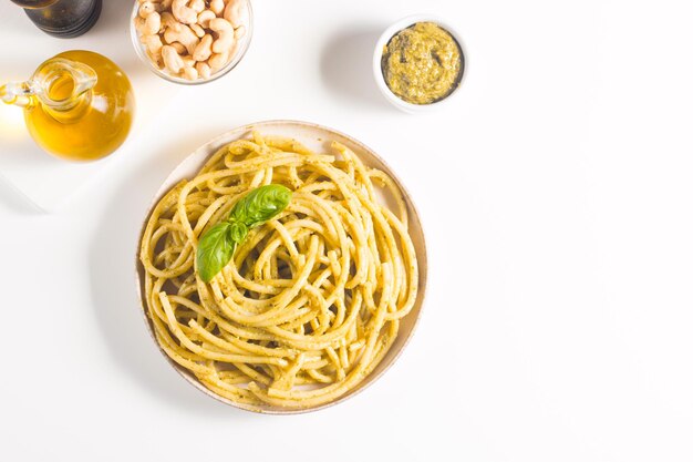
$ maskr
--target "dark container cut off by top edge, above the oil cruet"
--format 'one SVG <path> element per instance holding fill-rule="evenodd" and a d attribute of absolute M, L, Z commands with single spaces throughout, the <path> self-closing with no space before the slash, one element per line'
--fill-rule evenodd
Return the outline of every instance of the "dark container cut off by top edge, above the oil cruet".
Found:
<path fill-rule="evenodd" d="M 43 32 L 63 39 L 82 35 L 96 23 L 102 0 L 12 0 Z"/>

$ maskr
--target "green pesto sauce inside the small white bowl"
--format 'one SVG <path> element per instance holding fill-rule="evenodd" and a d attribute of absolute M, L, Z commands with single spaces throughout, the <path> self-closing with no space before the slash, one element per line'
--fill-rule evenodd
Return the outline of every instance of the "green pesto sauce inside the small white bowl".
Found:
<path fill-rule="evenodd" d="M 445 29 L 417 22 L 397 32 L 383 49 L 383 76 L 390 90 L 413 104 L 431 104 L 459 84 L 459 45 Z"/>

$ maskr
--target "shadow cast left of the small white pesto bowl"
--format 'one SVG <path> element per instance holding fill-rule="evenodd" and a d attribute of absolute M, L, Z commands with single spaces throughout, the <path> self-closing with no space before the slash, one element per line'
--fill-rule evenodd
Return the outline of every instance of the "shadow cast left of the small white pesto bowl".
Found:
<path fill-rule="evenodd" d="M 324 82 L 343 96 L 391 110 L 373 79 L 373 50 L 384 30 L 356 27 L 335 33 L 322 49 L 320 72 Z"/>

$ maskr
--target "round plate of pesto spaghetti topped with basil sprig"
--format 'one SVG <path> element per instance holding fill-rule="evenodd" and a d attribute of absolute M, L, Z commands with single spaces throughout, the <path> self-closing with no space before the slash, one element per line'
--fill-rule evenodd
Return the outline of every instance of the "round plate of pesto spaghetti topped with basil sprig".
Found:
<path fill-rule="evenodd" d="M 293 121 L 238 127 L 178 165 L 136 265 L 170 365 L 261 413 L 325 408 L 381 377 L 426 285 L 421 222 L 392 170 L 348 135 Z"/>

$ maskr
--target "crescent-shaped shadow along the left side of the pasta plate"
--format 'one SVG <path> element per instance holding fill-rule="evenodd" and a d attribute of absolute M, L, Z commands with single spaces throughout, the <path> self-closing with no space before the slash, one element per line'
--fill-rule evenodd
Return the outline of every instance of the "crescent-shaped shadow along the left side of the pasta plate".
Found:
<path fill-rule="evenodd" d="M 117 366 L 158 399 L 223 418 L 247 413 L 203 396 L 172 370 L 146 331 L 134 277 L 139 230 L 154 192 L 188 153 L 218 134 L 167 143 L 136 167 L 106 206 L 89 259 L 95 317 Z"/>

